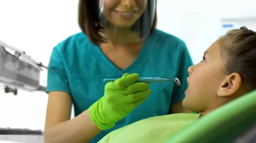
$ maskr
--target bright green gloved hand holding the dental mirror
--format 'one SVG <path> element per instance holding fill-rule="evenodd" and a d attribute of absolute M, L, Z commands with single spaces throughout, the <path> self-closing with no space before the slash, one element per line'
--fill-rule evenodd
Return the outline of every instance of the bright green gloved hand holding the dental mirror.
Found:
<path fill-rule="evenodd" d="M 125 73 L 122 78 L 105 85 L 104 96 L 89 108 L 90 118 L 96 126 L 102 130 L 112 128 L 147 99 L 151 93 L 149 84 L 135 82 L 138 78 L 137 73 Z"/>

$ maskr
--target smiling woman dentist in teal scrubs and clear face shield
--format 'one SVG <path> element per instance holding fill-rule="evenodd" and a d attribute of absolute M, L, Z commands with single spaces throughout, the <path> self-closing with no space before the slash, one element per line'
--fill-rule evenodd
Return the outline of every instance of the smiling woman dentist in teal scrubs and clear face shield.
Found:
<path fill-rule="evenodd" d="M 135 121 L 189 112 L 181 102 L 191 57 L 156 22 L 156 0 L 79 0 L 82 32 L 56 45 L 49 62 L 46 143 L 96 143 Z M 181 86 L 137 83 L 139 75 Z"/>

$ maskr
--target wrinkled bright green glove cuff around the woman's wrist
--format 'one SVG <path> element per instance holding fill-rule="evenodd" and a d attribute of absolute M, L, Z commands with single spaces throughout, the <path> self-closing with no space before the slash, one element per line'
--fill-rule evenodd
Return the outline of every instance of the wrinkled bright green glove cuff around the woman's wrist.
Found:
<path fill-rule="evenodd" d="M 93 123 L 101 130 L 111 129 L 115 126 L 114 122 L 109 121 L 102 109 L 102 98 L 89 107 L 89 115 Z"/>

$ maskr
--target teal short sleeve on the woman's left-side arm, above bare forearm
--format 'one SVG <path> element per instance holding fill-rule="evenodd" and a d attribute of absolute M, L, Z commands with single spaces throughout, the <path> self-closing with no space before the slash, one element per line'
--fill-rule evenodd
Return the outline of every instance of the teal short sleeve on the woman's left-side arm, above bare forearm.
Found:
<path fill-rule="evenodd" d="M 64 66 L 64 59 L 58 46 L 53 48 L 48 66 L 46 92 L 49 93 L 51 91 L 71 93 Z"/>

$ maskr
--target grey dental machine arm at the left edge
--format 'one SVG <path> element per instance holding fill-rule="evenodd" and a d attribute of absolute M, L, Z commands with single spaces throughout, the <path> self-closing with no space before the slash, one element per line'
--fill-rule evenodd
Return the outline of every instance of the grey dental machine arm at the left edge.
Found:
<path fill-rule="evenodd" d="M 0 41 L 0 84 L 3 85 L 5 93 L 17 95 L 17 89 L 45 91 L 46 87 L 39 84 L 42 68 L 48 67 L 22 50 Z"/>

